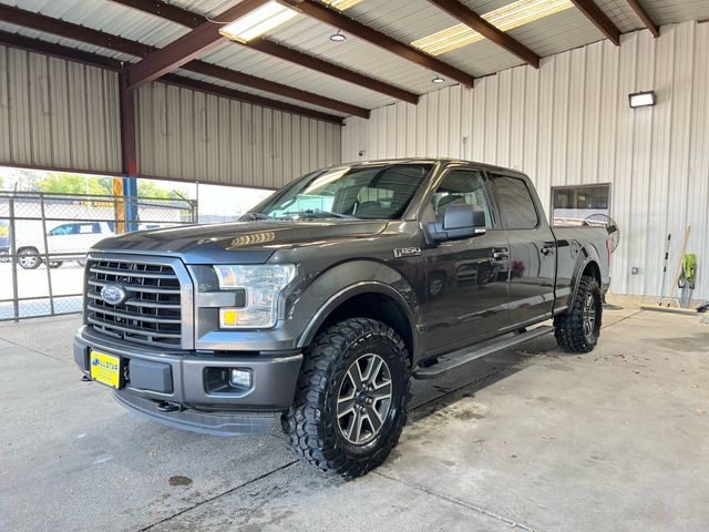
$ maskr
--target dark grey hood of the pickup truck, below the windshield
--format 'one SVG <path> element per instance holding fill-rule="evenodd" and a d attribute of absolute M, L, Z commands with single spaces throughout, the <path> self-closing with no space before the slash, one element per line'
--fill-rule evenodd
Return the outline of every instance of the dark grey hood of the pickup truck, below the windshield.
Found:
<path fill-rule="evenodd" d="M 138 231 L 105 238 L 90 252 L 178 256 L 186 264 L 259 264 L 281 248 L 362 238 L 384 231 L 384 221 L 264 221 Z"/>

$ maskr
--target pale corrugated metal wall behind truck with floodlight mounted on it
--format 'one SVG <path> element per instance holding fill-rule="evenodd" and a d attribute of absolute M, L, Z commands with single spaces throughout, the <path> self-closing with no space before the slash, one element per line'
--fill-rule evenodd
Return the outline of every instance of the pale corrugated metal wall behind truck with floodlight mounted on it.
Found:
<path fill-rule="evenodd" d="M 641 90 L 655 90 L 657 105 L 629 109 L 627 95 Z M 708 100 L 709 23 L 688 22 L 664 27 L 659 39 L 630 33 L 619 48 L 602 41 L 546 58 L 540 70 L 510 69 L 473 90 L 347 119 L 342 160 L 452 156 L 508 166 L 532 177 L 547 211 L 552 186 L 612 183 L 621 229 L 613 291 L 658 295 L 667 234 L 671 277 L 691 225 L 695 296 L 709 298 Z"/>

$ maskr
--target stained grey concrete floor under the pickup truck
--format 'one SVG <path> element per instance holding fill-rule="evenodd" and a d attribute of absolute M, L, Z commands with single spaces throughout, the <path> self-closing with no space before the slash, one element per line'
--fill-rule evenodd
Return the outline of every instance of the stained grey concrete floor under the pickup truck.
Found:
<path fill-rule="evenodd" d="M 0 325 L 0 530 L 703 531 L 709 325 L 607 310 L 599 347 L 553 338 L 415 383 L 387 463 L 343 481 L 282 437 L 129 415 L 71 360 L 75 317 Z"/>

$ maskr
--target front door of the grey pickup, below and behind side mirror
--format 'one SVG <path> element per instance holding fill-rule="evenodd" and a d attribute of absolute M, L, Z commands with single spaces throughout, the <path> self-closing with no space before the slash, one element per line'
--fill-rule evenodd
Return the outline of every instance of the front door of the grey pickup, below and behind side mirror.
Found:
<path fill-rule="evenodd" d="M 449 206 L 461 203 L 485 211 L 487 232 L 464 241 L 443 242 L 423 252 L 423 325 L 429 355 L 494 336 L 507 321 L 507 237 L 494 218 L 484 173 L 464 165 L 450 168 L 419 219 L 424 224 L 442 221 Z"/>

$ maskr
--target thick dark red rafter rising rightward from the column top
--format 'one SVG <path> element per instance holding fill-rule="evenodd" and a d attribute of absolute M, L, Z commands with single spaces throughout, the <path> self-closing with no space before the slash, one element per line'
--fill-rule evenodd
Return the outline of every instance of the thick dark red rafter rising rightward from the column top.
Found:
<path fill-rule="evenodd" d="M 243 0 L 218 16 L 218 20 L 237 20 L 260 8 L 268 0 Z M 225 41 L 219 25 L 205 21 L 186 35 L 154 51 L 148 57 L 127 69 L 127 88 L 138 86 L 174 72 L 182 65 L 204 54 Z"/>

